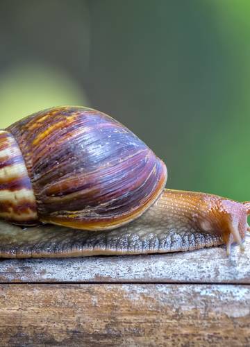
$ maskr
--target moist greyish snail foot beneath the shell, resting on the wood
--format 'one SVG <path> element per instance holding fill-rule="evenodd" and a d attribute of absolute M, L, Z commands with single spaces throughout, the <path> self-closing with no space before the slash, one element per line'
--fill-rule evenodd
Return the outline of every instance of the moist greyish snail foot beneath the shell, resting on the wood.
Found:
<path fill-rule="evenodd" d="M 0 222 L 0 257 L 85 257 L 92 255 L 136 255 L 192 251 L 217 246 L 222 239 L 202 232 L 179 232 L 149 226 L 136 221 L 114 230 L 90 232 L 45 225 L 22 230 Z"/>

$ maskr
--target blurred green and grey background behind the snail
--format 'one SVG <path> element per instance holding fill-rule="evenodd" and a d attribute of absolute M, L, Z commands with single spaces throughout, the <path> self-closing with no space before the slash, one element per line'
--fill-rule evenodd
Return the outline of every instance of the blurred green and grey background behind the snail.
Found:
<path fill-rule="evenodd" d="M 53 105 L 122 121 L 168 187 L 250 200 L 249 0 L 1 0 L 0 128 Z"/>

